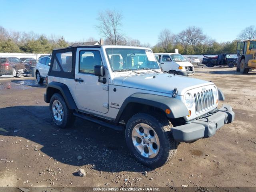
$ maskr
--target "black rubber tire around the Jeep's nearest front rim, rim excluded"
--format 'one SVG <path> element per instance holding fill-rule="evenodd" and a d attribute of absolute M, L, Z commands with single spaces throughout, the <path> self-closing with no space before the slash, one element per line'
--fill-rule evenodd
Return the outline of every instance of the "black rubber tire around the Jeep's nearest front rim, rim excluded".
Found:
<path fill-rule="evenodd" d="M 159 138 L 159 151 L 158 154 L 153 158 L 143 157 L 140 153 L 137 152 L 136 148 L 134 147 L 134 144 L 132 142 L 132 130 L 139 123 L 144 123 L 151 126 L 151 128 L 154 129 L 155 133 Z M 138 113 L 132 116 L 128 120 L 125 130 L 126 144 L 132 156 L 134 156 L 134 158 L 138 162 L 150 168 L 157 168 L 166 164 L 174 157 L 179 144 L 172 137 L 171 127 L 172 124 L 164 116 L 146 113 Z"/>

